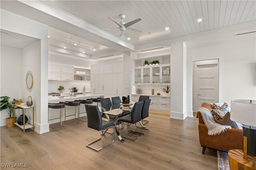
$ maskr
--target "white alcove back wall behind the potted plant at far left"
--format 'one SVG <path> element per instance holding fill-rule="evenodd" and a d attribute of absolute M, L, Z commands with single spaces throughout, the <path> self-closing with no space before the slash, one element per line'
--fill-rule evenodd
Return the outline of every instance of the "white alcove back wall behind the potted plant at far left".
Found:
<path fill-rule="evenodd" d="M 21 61 L 22 50 L 1 45 L 1 96 L 10 97 L 9 101 L 21 98 Z M 25 81 L 24 81 L 25 83 Z M 16 110 L 18 112 L 18 110 Z M 0 126 L 6 125 L 8 113 L 4 110 L 0 114 Z"/>

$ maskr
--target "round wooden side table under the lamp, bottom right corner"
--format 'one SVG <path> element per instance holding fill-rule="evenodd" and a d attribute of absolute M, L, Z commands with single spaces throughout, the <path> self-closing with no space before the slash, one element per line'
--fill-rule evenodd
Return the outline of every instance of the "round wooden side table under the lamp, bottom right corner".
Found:
<path fill-rule="evenodd" d="M 244 159 L 242 150 L 233 149 L 228 151 L 230 170 L 256 170 L 256 157 L 248 155 L 247 159 Z"/>

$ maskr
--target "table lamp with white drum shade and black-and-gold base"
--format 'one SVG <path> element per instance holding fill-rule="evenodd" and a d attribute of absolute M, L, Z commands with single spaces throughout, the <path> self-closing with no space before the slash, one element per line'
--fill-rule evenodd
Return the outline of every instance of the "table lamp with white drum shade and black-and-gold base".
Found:
<path fill-rule="evenodd" d="M 247 160 L 247 154 L 256 156 L 256 101 L 231 100 L 230 109 L 230 119 L 243 124 L 243 152 Z"/>

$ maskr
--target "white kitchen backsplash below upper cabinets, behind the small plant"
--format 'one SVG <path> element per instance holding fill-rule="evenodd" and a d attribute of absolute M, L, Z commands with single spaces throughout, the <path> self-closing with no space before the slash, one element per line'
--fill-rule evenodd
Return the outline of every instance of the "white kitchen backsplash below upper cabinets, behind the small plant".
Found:
<path fill-rule="evenodd" d="M 69 93 L 71 88 L 76 87 L 78 92 L 83 92 L 84 86 L 86 92 L 89 92 L 90 89 L 90 81 L 48 81 L 48 93 L 58 93 L 59 86 L 64 86 L 65 90 L 63 93 Z"/>

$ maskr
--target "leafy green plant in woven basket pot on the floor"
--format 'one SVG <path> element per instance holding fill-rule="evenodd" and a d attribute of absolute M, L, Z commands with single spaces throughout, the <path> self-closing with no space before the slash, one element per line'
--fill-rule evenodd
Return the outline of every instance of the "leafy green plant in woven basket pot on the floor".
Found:
<path fill-rule="evenodd" d="M 14 117 L 14 103 L 17 102 L 16 99 L 13 99 L 12 102 L 9 102 L 10 97 L 1 96 L 0 97 L 0 111 L 6 110 L 9 117 L 6 118 L 7 127 L 14 127 L 17 117 Z"/>

